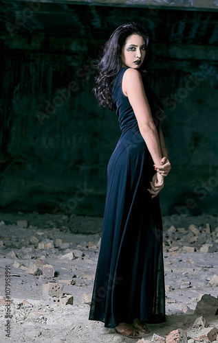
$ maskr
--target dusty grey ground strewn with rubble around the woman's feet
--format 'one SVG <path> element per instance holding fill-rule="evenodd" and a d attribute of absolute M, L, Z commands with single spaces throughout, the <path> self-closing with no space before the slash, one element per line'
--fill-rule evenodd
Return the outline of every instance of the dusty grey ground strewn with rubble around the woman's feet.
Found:
<path fill-rule="evenodd" d="M 197 331 L 192 328 L 192 324 L 196 318 L 193 312 L 197 301 L 202 294 L 210 294 L 216 298 L 218 294 L 218 287 L 212 287 L 209 283 L 212 276 L 218 274 L 217 218 L 211 215 L 177 215 L 163 219 L 167 322 L 149 325 L 151 333 L 142 337 L 151 340 L 153 333 L 163 336 L 173 329 L 182 328 L 187 331 L 188 338 L 195 338 Z M 28 220 L 28 227 L 17 226 L 17 220 Z M 1 342 L 137 342 L 116 335 L 114 329 L 106 329 L 100 322 L 88 320 L 101 223 L 101 218 L 75 215 L 0 215 Z M 172 224 L 176 228 L 173 234 L 168 232 Z M 199 237 L 193 241 L 190 238 L 196 236 L 188 230 L 190 224 L 195 224 L 201 231 Z M 210 234 L 204 233 L 206 224 L 210 224 Z M 184 228 L 186 233 L 178 233 L 177 228 Z M 36 237 L 39 242 L 33 243 L 32 237 Z M 56 239 L 62 239 L 63 246 L 57 246 Z M 40 249 L 39 243 L 42 242 L 50 242 L 54 247 Z M 213 244 L 214 252 L 199 252 L 204 244 Z M 197 251 L 185 252 L 183 245 L 195 246 Z M 76 259 L 60 259 L 73 250 Z M 12 251 L 15 255 L 10 255 Z M 17 268 L 13 265 L 15 261 L 18 262 L 15 264 Z M 26 270 L 31 263 L 38 263 L 39 270 L 36 275 Z M 46 278 L 41 274 L 43 263 L 53 265 L 56 271 L 53 278 Z M 10 339 L 6 338 L 4 333 L 6 307 L 3 296 L 6 296 L 6 265 L 10 266 L 11 274 Z M 54 303 L 52 298 L 43 298 L 42 285 L 48 281 L 62 283 L 64 293 L 74 296 L 74 304 L 61 306 Z M 204 317 L 209 326 L 218 327 L 218 316 Z"/>

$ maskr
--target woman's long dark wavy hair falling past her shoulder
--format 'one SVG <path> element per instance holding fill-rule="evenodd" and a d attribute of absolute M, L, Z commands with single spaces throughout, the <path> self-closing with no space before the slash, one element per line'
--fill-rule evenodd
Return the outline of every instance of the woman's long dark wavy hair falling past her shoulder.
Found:
<path fill-rule="evenodd" d="M 151 60 L 151 46 L 149 44 L 148 32 L 144 27 L 136 23 L 120 25 L 111 34 L 107 43 L 105 43 L 102 56 L 96 64 L 97 71 L 93 91 L 99 106 L 109 108 L 110 110 L 112 108 L 113 80 L 122 68 L 120 54 L 127 38 L 132 34 L 138 34 L 145 40 L 146 55 L 138 71 L 142 74 L 146 73 L 146 68 Z"/>

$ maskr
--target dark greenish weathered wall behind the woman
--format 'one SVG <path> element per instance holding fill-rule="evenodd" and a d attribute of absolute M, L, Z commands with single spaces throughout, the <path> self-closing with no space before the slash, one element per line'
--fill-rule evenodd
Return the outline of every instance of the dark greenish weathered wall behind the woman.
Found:
<path fill-rule="evenodd" d="M 107 34 L 129 20 L 128 11 L 107 9 L 116 19 L 107 26 Z M 165 104 L 162 129 L 172 163 L 162 191 L 162 212 L 215 214 L 217 37 L 206 34 L 215 17 L 177 11 L 181 25 L 177 26 L 171 11 L 143 11 L 142 23 L 153 27 L 157 58 L 151 83 Z M 142 8 L 134 9 L 131 19 L 139 14 Z M 160 20 L 163 16 L 167 22 Z M 188 16 L 193 26 L 182 29 Z M 74 25 L 81 28 L 79 19 Z M 82 37 L 69 38 L 67 30 L 63 36 L 62 28 L 59 37 L 52 32 L 47 36 L 19 32 L 2 40 L 1 211 L 102 215 L 107 161 L 120 131 L 116 115 L 98 108 L 91 91 L 93 60 L 104 37 L 103 29 L 99 36 L 96 30 L 100 23 L 95 25 L 95 34 L 88 33 L 87 38 L 84 31 Z"/>

